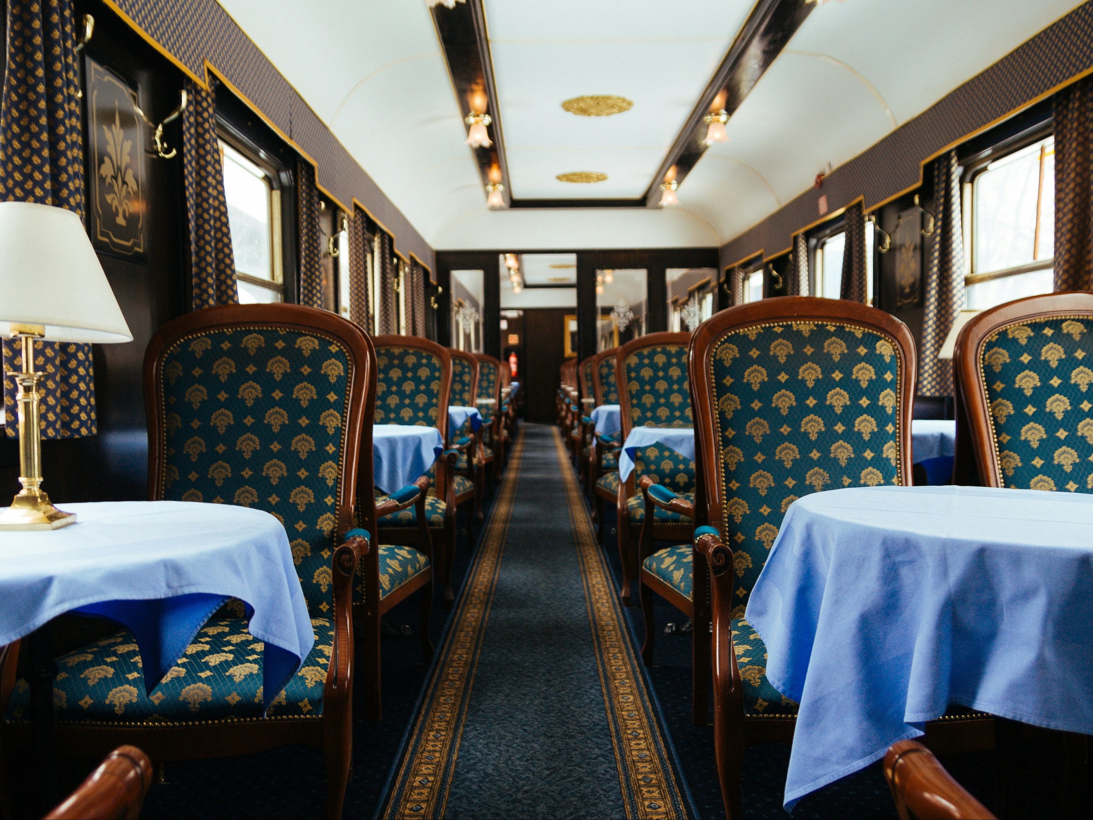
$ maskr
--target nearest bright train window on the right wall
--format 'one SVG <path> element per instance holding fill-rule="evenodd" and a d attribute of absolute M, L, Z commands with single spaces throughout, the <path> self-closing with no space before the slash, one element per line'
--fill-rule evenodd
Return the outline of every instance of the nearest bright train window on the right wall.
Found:
<path fill-rule="evenodd" d="M 971 202 L 968 202 L 971 198 Z M 1055 138 L 977 169 L 964 187 L 967 306 L 985 309 L 1054 288 Z"/>

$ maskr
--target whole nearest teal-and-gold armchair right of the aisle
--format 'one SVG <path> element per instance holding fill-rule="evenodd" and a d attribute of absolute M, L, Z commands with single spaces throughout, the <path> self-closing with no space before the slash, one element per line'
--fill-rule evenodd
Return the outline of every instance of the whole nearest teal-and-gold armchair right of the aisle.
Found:
<path fill-rule="evenodd" d="M 766 678 L 766 649 L 744 619 L 751 590 L 798 497 L 910 485 L 915 343 L 883 311 L 783 296 L 707 319 L 695 331 L 690 363 L 703 526 L 693 550 L 654 553 L 642 577 L 696 609 L 708 578 L 718 776 L 727 816 L 739 818 L 744 749 L 790 742 L 797 713 Z M 675 503 L 670 488 L 646 494 L 658 508 Z M 696 614 L 696 655 L 708 635 Z M 947 715 L 927 724 L 927 739 L 932 734 L 953 750 L 989 748 L 984 719 Z"/>

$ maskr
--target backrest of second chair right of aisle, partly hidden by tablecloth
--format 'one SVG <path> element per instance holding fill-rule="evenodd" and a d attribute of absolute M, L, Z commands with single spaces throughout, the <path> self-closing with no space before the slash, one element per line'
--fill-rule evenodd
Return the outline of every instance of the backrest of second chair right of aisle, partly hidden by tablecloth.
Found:
<path fill-rule="evenodd" d="M 691 333 L 649 333 L 615 351 L 622 441 L 633 427 L 690 427 L 691 391 L 687 345 Z M 636 452 L 626 494 L 643 476 L 675 492 L 694 490 L 694 461 L 675 450 L 651 445 Z"/>

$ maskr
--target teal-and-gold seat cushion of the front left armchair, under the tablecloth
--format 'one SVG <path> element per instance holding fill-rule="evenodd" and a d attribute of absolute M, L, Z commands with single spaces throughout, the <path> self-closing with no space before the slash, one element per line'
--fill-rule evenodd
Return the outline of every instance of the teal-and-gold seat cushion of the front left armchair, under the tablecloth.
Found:
<path fill-rule="evenodd" d="M 380 547 L 380 550 L 385 548 Z M 262 712 L 262 659 L 266 645 L 242 619 L 209 620 L 163 680 L 144 692 L 137 641 L 117 632 L 57 659 L 54 711 L 74 723 L 189 723 L 259 718 Z M 312 619 L 315 646 L 299 671 L 270 706 L 270 717 L 322 714 L 322 689 L 333 646 L 333 621 Z M 15 683 L 9 721 L 27 719 L 30 687 Z"/>

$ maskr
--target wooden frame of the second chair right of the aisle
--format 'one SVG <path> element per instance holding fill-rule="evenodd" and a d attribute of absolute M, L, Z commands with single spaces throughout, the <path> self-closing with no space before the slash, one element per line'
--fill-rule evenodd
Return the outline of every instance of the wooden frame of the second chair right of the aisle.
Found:
<path fill-rule="evenodd" d="M 630 435 L 630 396 L 626 390 L 626 359 L 635 351 L 643 348 L 654 348 L 661 344 L 679 344 L 686 347 L 691 343 L 691 333 L 660 332 L 648 333 L 633 339 L 615 350 L 615 384 L 619 386 L 619 412 L 622 423 L 620 443 L 626 441 Z M 693 412 L 693 410 L 692 410 Z M 639 581 L 640 560 L 638 558 L 638 543 L 642 537 L 642 525 L 632 524 L 626 501 L 637 493 L 637 480 L 635 473 L 630 473 L 630 478 L 619 482 L 619 493 L 615 497 L 615 509 L 619 520 L 619 558 L 622 562 L 622 588 L 620 597 L 624 607 L 631 606 L 631 589 L 635 581 Z M 650 539 L 663 541 L 690 541 L 694 532 L 694 524 L 657 524 L 654 522 Z M 677 595 L 677 597 L 679 597 Z"/>

